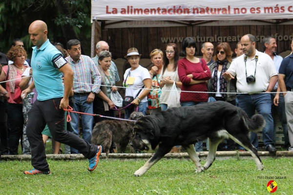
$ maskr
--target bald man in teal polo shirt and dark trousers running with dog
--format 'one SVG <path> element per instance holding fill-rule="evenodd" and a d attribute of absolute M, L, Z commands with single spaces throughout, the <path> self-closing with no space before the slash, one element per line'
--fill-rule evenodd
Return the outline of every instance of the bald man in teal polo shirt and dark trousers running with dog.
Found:
<path fill-rule="evenodd" d="M 64 110 L 73 83 L 73 71 L 58 49 L 47 38 L 47 25 L 43 21 L 32 22 L 28 29 L 30 40 L 35 45 L 31 59 L 33 82 L 22 91 L 21 97 L 36 87 L 38 100 L 28 112 L 27 138 L 32 150 L 32 170 L 24 174 L 50 174 L 46 161 L 42 130 L 47 124 L 52 138 L 60 143 L 74 146 L 89 160 L 88 171 L 97 167 L 102 146 L 95 146 L 64 128 Z M 64 86 L 62 81 L 64 75 Z"/>

